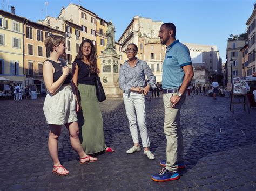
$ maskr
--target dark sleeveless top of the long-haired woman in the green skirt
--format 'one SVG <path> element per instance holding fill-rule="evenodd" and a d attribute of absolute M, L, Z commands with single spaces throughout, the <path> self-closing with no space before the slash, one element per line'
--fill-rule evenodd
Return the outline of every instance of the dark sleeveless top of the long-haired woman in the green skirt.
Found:
<path fill-rule="evenodd" d="M 77 63 L 77 66 L 78 66 L 77 83 L 95 86 L 96 74 L 89 73 L 90 65 L 87 65 L 86 63 L 84 63 L 82 60 L 79 60 L 79 59 L 75 59 L 74 62 Z"/>

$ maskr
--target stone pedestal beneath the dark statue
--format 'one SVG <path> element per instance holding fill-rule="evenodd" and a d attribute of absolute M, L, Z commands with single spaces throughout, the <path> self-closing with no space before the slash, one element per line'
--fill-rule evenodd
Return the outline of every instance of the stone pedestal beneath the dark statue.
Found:
<path fill-rule="evenodd" d="M 119 88 L 120 58 L 113 49 L 106 49 L 99 55 L 101 68 L 99 77 L 102 81 L 107 97 L 122 97 L 123 91 Z"/>

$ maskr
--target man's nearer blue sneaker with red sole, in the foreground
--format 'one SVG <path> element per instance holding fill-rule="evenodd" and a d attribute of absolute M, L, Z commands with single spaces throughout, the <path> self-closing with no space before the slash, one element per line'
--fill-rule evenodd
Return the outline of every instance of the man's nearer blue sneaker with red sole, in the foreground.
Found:
<path fill-rule="evenodd" d="M 179 179 L 179 173 L 168 171 L 166 168 L 163 168 L 159 173 L 152 175 L 151 179 L 157 182 L 177 180 Z"/>

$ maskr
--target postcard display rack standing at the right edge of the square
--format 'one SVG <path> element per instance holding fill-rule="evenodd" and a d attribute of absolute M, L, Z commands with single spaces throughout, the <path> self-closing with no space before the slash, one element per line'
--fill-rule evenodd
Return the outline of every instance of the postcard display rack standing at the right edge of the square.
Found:
<path fill-rule="evenodd" d="M 239 96 L 239 101 L 234 100 L 234 96 Z M 243 98 L 243 102 L 241 102 L 241 98 Z M 247 91 L 246 91 L 246 81 L 240 79 L 240 77 L 233 77 L 232 78 L 232 90 L 231 90 L 231 100 L 230 100 L 230 111 L 234 113 L 234 105 L 235 104 L 243 104 L 244 105 L 244 111 L 246 111 L 246 105 L 248 109 L 248 113 L 250 114 L 250 106 L 249 101 L 247 97 Z"/>

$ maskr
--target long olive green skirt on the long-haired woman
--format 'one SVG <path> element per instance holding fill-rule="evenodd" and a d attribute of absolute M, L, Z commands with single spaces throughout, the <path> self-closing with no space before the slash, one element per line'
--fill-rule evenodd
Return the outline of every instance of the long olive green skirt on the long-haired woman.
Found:
<path fill-rule="evenodd" d="M 78 84 L 82 111 L 78 112 L 79 139 L 86 154 L 106 149 L 102 112 L 99 108 L 95 86 Z"/>

